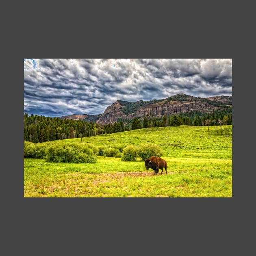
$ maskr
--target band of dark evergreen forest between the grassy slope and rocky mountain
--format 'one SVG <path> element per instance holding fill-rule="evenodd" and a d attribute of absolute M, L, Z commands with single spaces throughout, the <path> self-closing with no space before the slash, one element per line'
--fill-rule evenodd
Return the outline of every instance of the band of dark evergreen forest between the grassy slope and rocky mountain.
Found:
<path fill-rule="evenodd" d="M 189 116 L 190 115 L 190 116 Z M 54 141 L 60 139 L 72 139 L 90 137 L 100 134 L 110 134 L 135 130 L 149 127 L 163 126 L 215 126 L 218 124 L 232 124 L 232 113 L 211 113 L 204 114 L 180 113 L 177 115 L 166 116 L 161 118 L 138 117 L 124 124 L 123 121 L 114 124 L 101 125 L 93 122 L 72 119 L 59 119 L 57 117 L 44 117 L 42 115 L 30 116 L 24 114 L 24 141 L 40 143 L 45 141 Z"/>

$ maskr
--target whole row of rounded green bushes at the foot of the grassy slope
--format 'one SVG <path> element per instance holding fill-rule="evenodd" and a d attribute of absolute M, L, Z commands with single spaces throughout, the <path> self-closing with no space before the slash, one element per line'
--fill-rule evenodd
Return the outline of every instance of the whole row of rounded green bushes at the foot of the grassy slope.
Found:
<path fill-rule="evenodd" d="M 121 157 L 121 161 L 142 161 L 151 156 L 162 156 L 158 145 L 145 143 L 136 145 L 114 145 L 96 147 L 92 143 L 32 143 L 24 141 L 24 157 L 45 158 L 48 162 L 96 163 L 97 155 L 104 157 Z"/>

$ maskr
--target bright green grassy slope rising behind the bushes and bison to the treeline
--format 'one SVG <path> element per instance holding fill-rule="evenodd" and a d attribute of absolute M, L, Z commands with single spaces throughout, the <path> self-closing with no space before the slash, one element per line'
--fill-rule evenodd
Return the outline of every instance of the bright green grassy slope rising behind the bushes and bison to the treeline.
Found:
<path fill-rule="evenodd" d="M 227 126 L 231 129 L 232 126 Z M 225 126 L 224 126 L 225 128 Z M 214 126 L 168 126 L 145 128 L 113 134 L 82 138 L 82 142 L 101 145 L 141 145 L 153 143 L 159 145 L 164 156 L 182 158 L 232 159 L 232 134 L 214 133 Z M 223 129 L 223 127 L 222 127 Z M 80 142 L 81 139 L 67 139 L 67 142 Z"/>

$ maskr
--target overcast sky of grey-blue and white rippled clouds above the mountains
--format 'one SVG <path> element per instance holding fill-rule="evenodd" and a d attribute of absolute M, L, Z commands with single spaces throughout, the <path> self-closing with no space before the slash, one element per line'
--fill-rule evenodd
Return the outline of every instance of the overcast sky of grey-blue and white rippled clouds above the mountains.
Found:
<path fill-rule="evenodd" d="M 24 59 L 24 113 L 101 114 L 116 100 L 232 96 L 232 59 Z"/>

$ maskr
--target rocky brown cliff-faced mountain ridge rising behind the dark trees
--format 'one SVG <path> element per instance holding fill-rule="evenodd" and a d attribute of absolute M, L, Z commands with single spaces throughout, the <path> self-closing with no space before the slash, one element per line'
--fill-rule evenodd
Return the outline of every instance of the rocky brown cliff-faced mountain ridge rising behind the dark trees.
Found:
<path fill-rule="evenodd" d="M 230 107 L 232 107 L 232 97 L 230 96 L 200 98 L 180 93 L 161 100 L 139 100 L 136 102 L 117 100 L 100 115 L 68 115 L 59 118 L 92 121 L 98 124 L 113 124 L 116 121 L 126 121 L 134 117 L 163 117 L 163 115 L 191 111 L 211 113 L 215 110 Z"/>

